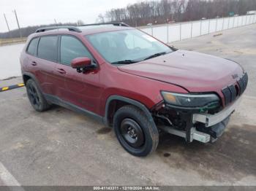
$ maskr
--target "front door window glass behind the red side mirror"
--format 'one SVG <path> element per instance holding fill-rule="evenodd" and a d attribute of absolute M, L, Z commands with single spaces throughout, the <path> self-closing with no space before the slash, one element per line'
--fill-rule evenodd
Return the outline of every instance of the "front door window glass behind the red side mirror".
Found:
<path fill-rule="evenodd" d="M 61 63 L 70 65 L 74 58 L 88 57 L 91 54 L 78 39 L 72 36 L 61 36 Z"/>

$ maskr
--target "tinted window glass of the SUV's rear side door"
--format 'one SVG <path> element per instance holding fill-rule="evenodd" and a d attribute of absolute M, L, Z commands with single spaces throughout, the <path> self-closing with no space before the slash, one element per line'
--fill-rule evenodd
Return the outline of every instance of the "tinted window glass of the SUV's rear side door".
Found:
<path fill-rule="evenodd" d="M 57 61 L 58 36 L 42 36 L 39 40 L 37 56 L 48 61 Z"/>

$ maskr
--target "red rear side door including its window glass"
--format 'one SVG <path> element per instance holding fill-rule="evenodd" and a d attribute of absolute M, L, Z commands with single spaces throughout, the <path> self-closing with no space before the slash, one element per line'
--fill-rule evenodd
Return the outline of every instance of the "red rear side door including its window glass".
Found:
<path fill-rule="evenodd" d="M 41 36 L 37 47 L 36 76 L 44 93 L 56 94 L 53 71 L 57 62 L 58 35 Z"/>

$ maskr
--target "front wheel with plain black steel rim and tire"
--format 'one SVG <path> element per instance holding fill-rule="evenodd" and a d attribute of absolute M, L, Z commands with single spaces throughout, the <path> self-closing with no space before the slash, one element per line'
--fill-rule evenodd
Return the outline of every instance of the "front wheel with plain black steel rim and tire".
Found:
<path fill-rule="evenodd" d="M 143 157 L 157 149 L 157 127 L 135 106 L 123 106 L 114 115 L 113 128 L 121 146 L 132 155 Z"/>

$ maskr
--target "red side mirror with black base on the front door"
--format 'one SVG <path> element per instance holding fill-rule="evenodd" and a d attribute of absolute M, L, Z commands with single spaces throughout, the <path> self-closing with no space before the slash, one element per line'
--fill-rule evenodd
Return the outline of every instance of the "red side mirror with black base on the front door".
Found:
<path fill-rule="evenodd" d="M 77 69 L 79 73 L 86 72 L 89 69 L 95 69 L 96 65 L 91 63 L 91 59 L 87 57 L 75 58 L 71 61 L 71 66 L 73 69 Z"/>

